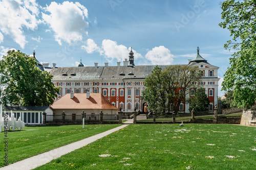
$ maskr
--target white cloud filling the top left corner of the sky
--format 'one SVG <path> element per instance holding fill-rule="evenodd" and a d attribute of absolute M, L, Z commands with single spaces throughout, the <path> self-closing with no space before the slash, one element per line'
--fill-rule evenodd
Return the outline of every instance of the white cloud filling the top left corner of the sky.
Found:
<path fill-rule="evenodd" d="M 23 28 L 34 30 L 41 21 L 37 19 L 39 6 L 35 0 L 0 1 L 0 30 L 24 48 L 27 43 Z"/>

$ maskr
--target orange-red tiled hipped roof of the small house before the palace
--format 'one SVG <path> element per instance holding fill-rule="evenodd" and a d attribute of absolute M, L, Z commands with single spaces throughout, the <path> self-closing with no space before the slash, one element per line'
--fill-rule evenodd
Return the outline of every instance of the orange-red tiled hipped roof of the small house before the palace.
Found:
<path fill-rule="evenodd" d="M 65 94 L 51 106 L 53 109 L 112 109 L 118 110 L 113 104 L 104 98 L 101 93 L 90 93 L 87 99 L 86 93 L 75 93 L 74 98 L 70 98 L 70 93 Z"/>

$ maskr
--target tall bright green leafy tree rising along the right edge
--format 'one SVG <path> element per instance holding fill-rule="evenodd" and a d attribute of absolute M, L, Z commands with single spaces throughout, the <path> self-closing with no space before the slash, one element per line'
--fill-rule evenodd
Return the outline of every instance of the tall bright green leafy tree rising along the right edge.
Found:
<path fill-rule="evenodd" d="M 222 90 L 233 90 L 233 102 L 250 108 L 256 101 L 256 1 L 226 0 L 222 3 L 220 27 L 230 31 L 231 40 L 224 45 L 236 52 L 224 75 Z"/>

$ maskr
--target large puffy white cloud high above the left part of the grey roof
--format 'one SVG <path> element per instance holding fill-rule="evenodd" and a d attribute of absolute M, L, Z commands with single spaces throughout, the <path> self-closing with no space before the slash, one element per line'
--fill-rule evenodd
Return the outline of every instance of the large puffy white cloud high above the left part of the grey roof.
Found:
<path fill-rule="evenodd" d="M 50 15 L 42 13 L 42 18 L 55 32 L 55 40 L 61 45 L 61 41 L 69 44 L 81 41 L 83 35 L 87 35 L 86 28 L 89 24 L 85 20 L 88 10 L 80 3 L 63 2 L 57 4 L 52 2 L 44 8 Z"/>

